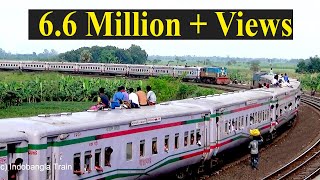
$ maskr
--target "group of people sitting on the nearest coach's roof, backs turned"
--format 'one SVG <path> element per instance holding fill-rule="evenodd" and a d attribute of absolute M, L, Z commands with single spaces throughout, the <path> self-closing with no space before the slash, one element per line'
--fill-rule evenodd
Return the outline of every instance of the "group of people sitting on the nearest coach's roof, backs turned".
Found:
<path fill-rule="evenodd" d="M 90 110 L 101 110 L 105 108 L 115 109 L 120 108 L 140 108 L 140 106 L 152 106 L 157 102 L 156 94 L 151 90 L 151 86 L 147 86 L 147 93 L 137 87 L 136 92 L 133 88 L 127 91 L 124 86 L 118 87 L 118 91 L 113 95 L 110 101 L 104 92 L 104 88 L 99 89 L 98 103 L 92 106 Z"/>

